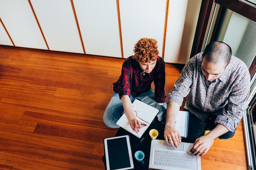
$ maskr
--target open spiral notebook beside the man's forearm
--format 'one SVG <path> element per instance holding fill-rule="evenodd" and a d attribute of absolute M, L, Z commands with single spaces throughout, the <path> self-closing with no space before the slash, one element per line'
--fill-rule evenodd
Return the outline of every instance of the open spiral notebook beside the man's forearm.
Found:
<path fill-rule="evenodd" d="M 189 132 L 189 112 L 179 111 L 175 120 L 175 129 L 181 137 L 187 137 Z"/>

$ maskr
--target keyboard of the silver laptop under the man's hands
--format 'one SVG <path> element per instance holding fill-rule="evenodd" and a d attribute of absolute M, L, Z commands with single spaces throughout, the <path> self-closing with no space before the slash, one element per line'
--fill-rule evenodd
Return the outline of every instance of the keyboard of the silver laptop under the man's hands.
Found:
<path fill-rule="evenodd" d="M 173 153 L 170 150 L 155 150 L 154 164 L 168 167 L 197 169 L 196 157 L 189 153 Z"/>

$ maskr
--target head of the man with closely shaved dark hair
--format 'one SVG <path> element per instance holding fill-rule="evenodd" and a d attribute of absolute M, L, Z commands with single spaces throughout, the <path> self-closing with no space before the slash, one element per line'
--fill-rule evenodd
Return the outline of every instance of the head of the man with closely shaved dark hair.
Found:
<path fill-rule="evenodd" d="M 202 61 L 202 73 L 208 81 L 222 76 L 230 62 L 231 48 L 224 42 L 214 41 L 205 47 Z"/>

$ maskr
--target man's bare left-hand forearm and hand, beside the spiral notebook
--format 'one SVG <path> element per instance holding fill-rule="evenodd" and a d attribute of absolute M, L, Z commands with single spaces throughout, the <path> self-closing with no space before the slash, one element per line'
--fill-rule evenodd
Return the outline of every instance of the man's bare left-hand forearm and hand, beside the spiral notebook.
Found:
<path fill-rule="evenodd" d="M 180 111 L 180 105 L 175 102 L 168 102 L 166 109 L 166 124 L 164 129 L 164 139 L 167 144 L 179 147 L 181 143 L 180 133 L 176 131 L 175 119 Z"/>

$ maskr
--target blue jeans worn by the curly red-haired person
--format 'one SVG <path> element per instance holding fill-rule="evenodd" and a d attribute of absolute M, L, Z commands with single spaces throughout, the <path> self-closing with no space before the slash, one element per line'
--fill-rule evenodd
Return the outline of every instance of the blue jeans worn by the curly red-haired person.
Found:
<path fill-rule="evenodd" d="M 146 96 L 155 99 L 155 92 L 153 91 L 153 89 L 148 90 L 148 92 L 142 93 L 136 98 L 142 99 Z M 135 98 L 130 95 L 130 100 L 131 102 L 134 102 Z M 103 114 L 103 122 L 106 124 L 106 126 L 110 128 L 119 128 L 116 123 L 123 114 L 124 107 L 122 100 L 119 98 L 119 94 L 115 92 Z"/>

